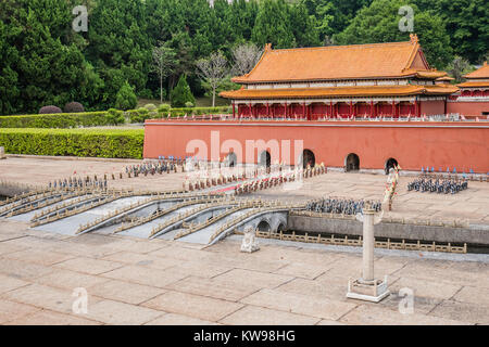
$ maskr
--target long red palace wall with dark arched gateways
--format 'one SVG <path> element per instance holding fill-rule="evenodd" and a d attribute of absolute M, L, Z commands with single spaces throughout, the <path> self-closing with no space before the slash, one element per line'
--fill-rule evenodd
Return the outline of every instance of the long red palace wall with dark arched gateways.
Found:
<path fill-rule="evenodd" d="M 217 151 L 211 154 L 211 132 L 218 134 Z M 343 167 L 346 157 L 355 153 L 360 168 L 384 169 L 386 160 L 394 158 L 405 170 L 440 167 L 457 172 L 473 169 L 489 172 L 489 124 L 465 123 L 400 123 L 400 121 L 258 121 L 258 120 L 147 120 L 145 158 L 164 156 L 195 156 L 186 152 L 192 140 L 206 144 L 206 157 L 224 158 L 229 149 L 237 153 L 237 144 L 246 149 L 247 140 L 302 140 L 303 149 L 311 150 L 317 164 Z M 218 149 L 226 140 L 227 150 Z M 196 141 L 193 141 L 196 143 Z M 233 145 L 234 143 L 234 145 Z M 290 145 L 293 149 L 293 142 Z M 289 147 L 290 147 L 289 146 Z M 293 153 L 293 151 L 292 151 Z M 239 153 L 238 157 L 239 157 Z M 256 163 L 258 151 L 254 153 Z M 203 158 L 203 155 L 198 155 Z M 246 156 L 246 154 L 243 154 Z M 292 155 L 292 163 L 293 157 Z M 285 158 L 272 157 L 272 163 Z M 238 158 L 239 160 L 239 158 Z M 241 160 L 240 160 L 241 162 Z"/>

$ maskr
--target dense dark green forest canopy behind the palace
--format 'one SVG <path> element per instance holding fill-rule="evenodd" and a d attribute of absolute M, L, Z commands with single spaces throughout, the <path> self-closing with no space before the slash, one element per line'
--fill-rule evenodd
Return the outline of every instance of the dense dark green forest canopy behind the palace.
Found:
<path fill-rule="evenodd" d="M 88 9 L 88 31 L 76 33 L 76 5 Z M 274 48 L 408 40 L 399 8 L 414 10 L 414 33 L 438 68 L 454 56 L 488 56 L 485 0 L 9 0 L 0 1 L 0 115 L 37 113 L 79 102 L 87 111 L 116 103 L 126 83 L 137 97 L 170 95 L 186 75 L 206 92 L 197 62 L 254 43 Z M 172 68 L 155 69 L 165 48 Z M 160 67 L 166 64 L 160 61 Z M 164 89 L 164 90 L 162 90 Z"/>

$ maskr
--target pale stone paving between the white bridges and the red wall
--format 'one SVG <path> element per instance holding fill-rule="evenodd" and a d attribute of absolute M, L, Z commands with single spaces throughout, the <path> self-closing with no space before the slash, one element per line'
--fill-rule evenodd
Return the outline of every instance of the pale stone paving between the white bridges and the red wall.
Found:
<path fill-rule="evenodd" d="M 128 165 L 137 165 L 142 160 L 122 159 L 42 159 L 36 157 L 10 157 L 0 160 L 0 180 L 17 183 L 48 184 L 54 179 L 70 176 L 104 174 L 110 178 L 112 172 L 125 172 Z M 186 174 L 164 174 L 148 177 L 109 180 L 111 188 L 135 188 L 140 190 L 180 190 Z M 348 198 L 383 200 L 386 188 L 385 175 L 328 172 L 313 177 L 303 182 L 296 191 L 284 191 L 278 187 L 253 194 L 254 196 L 284 198 L 289 201 L 308 201 L 325 196 Z M 455 195 L 410 192 L 406 184 L 414 177 L 401 177 L 393 211 L 386 214 L 392 217 L 468 219 L 472 223 L 489 224 L 489 183 L 468 183 L 469 189 Z"/>

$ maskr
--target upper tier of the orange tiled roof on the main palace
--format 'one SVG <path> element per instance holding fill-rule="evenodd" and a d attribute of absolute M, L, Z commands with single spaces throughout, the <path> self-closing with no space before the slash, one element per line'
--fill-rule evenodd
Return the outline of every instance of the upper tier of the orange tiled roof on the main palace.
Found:
<path fill-rule="evenodd" d="M 330 79 L 438 78 L 430 69 L 415 35 L 411 41 L 273 50 L 267 44 L 260 62 L 237 83 Z"/>

